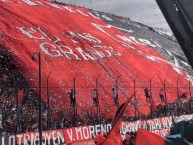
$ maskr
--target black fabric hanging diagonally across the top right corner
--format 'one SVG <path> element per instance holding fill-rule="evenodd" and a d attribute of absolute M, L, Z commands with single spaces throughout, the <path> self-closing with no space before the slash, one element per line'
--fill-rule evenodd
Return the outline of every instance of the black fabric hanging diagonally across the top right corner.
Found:
<path fill-rule="evenodd" d="M 193 0 L 156 0 L 193 68 Z"/>

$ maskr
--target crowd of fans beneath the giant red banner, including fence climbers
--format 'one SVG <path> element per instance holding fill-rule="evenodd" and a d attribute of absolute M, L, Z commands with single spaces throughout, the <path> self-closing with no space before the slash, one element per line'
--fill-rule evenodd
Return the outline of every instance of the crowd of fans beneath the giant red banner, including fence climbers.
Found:
<path fill-rule="evenodd" d="M 27 85 L 22 74 L 17 71 L 15 65 L 9 58 L 0 52 L 0 136 L 18 134 L 24 132 L 38 131 L 38 106 L 39 100 L 33 88 Z M 18 80 L 16 78 L 19 78 Z M 145 95 L 148 97 L 147 102 L 151 102 L 148 88 L 145 88 Z M 97 107 L 97 90 L 93 92 L 93 105 Z M 118 103 L 118 93 L 116 88 L 112 89 L 114 103 Z M 75 94 L 73 90 L 69 93 L 71 97 L 71 107 L 74 107 Z M 17 98 L 20 98 L 19 100 Z M 22 99 L 21 99 L 22 98 Z M 22 102 L 20 101 L 22 100 Z M 112 123 L 113 119 L 104 120 L 103 115 L 100 117 L 87 114 L 85 120 L 66 118 L 65 113 L 60 113 L 60 118 L 54 118 L 50 115 L 49 107 L 43 104 L 42 109 L 42 126 L 43 130 L 54 130 L 68 128 L 74 125 L 92 125 L 99 123 Z M 157 106 L 149 116 L 124 117 L 125 121 L 135 121 L 137 119 L 149 119 L 168 115 L 182 115 L 193 113 L 191 109 L 192 100 L 188 102 L 176 101 L 172 104 Z M 62 115 L 61 115 L 62 114 Z M 78 116 L 77 116 L 78 118 Z"/>

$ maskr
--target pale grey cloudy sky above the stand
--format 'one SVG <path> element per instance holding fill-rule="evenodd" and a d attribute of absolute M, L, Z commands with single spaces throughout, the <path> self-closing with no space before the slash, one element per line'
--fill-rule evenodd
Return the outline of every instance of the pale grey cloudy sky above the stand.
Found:
<path fill-rule="evenodd" d="M 155 0 L 57 0 L 67 4 L 129 17 L 154 28 L 171 31 Z"/>

